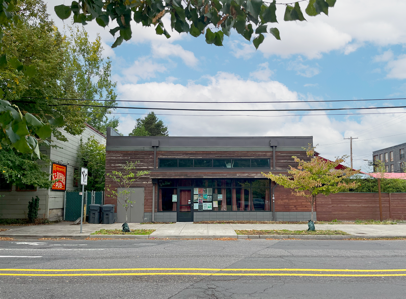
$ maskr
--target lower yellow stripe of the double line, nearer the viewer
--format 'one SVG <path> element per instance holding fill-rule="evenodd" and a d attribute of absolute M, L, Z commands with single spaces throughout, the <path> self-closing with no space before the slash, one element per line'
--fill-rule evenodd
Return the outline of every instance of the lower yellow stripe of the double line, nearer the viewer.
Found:
<path fill-rule="evenodd" d="M 2 273 L 0 276 L 319 276 L 319 277 L 389 277 L 406 276 L 406 274 L 310 274 L 310 273 L 77 273 L 77 274 L 14 274 Z"/>

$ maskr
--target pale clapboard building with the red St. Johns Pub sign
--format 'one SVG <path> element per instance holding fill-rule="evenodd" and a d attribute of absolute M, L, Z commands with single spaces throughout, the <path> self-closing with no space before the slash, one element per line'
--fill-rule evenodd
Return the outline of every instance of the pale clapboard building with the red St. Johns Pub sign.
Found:
<path fill-rule="evenodd" d="M 9 184 L 0 184 L 0 218 L 27 218 L 28 203 L 34 196 L 40 198 L 38 217 L 51 221 L 61 221 L 64 213 L 65 191 L 79 189 L 80 180 L 74 178 L 74 174 L 79 172 L 79 161 L 77 159 L 80 139 L 85 143 L 88 138 L 94 136 L 95 139 L 105 144 L 105 136 L 86 124 L 85 131 L 80 135 L 70 135 L 64 130 L 60 130 L 68 139 L 66 142 L 53 140 L 52 144 L 57 147 L 40 147 L 40 152 L 49 157 L 52 161 L 49 166 L 49 173 L 54 180 L 61 180 L 55 183 L 50 190 L 37 189 L 35 186 L 25 186 L 18 188 Z M 4 183 L 4 182 L 3 182 Z"/>

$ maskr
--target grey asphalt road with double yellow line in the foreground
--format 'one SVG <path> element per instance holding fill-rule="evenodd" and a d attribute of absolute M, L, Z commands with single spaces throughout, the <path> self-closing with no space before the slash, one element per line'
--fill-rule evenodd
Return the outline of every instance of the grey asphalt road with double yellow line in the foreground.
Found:
<path fill-rule="evenodd" d="M 406 297 L 404 241 L 0 241 L 0 268 L 2 299 Z"/>

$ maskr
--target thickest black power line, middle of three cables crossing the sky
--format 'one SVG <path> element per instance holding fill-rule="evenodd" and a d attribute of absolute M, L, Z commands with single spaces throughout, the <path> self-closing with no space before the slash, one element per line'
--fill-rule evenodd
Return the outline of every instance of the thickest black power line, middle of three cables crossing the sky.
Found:
<path fill-rule="evenodd" d="M 406 106 L 392 106 L 392 107 L 362 107 L 362 108 L 318 108 L 318 109 L 186 109 L 186 108 L 151 108 L 151 107 L 118 107 L 118 106 L 98 106 L 98 105 L 80 105 L 80 104 L 54 104 L 48 105 L 49 107 L 59 107 L 59 106 L 81 106 L 81 107 L 95 107 L 95 108 L 114 108 L 114 109 L 142 109 L 142 110 L 171 110 L 171 111 L 337 111 L 337 110 L 370 110 L 370 109 L 395 109 L 395 108 L 406 108 Z"/>

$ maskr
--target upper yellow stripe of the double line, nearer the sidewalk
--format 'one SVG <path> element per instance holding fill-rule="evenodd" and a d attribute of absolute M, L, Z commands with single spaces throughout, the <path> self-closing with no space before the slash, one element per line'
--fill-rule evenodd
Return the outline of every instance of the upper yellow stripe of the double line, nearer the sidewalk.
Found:
<path fill-rule="evenodd" d="M 295 269 L 295 268 L 111 268 L 111 269 L 0 269 L 0 271 L 24 271 L 24 272 L 81 272 L 81 271 L 293 271 L 293 272 L 405 272 L 406 269 Z"/>

